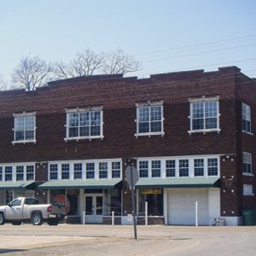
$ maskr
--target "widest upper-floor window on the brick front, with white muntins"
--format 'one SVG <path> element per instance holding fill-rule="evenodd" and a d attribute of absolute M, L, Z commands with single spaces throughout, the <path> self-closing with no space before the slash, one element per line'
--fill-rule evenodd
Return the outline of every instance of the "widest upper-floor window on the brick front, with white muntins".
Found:
<path fill-rule="evenodd" d="M 102 111 L 67 113 L 67 138 L 102 137 Z"/>

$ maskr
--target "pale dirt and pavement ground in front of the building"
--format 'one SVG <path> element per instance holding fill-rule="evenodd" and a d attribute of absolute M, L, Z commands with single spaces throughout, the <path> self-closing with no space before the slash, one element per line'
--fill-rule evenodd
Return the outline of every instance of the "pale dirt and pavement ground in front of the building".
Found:
<path fill-rule="evenodd" d="M 4 255 L 255 255 L 256 227 L 5 225 Z"/>

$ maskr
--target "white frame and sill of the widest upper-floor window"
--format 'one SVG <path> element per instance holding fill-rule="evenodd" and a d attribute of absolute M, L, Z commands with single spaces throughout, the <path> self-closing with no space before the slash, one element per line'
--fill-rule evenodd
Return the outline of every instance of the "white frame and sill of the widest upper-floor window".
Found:
<path fill-rule="evenodd" d="M 93 112 L 99 112 L 100 113 L 100 118 L 101 118 L 101 124 L 100 124 L 100 135 L 96 135 L 96 136 L 78 136 L 78 137 L 70 137 L 69 136 L 69 114 L 71 113 L 93 113 Z M 64 140 L 67 142 L 69 140 L 81 140 L 81 139 L 96 139 L 96 138 L 101 138 L 103 139 L 103 107 L 91 107 L 91 108 L 74 108 L 74 109 L 66 109 L 66 137 L 64 138 Z M 78 126 L 80 127 L 80 125 Z M 89 126 L 90 127 L 90 126 Z"/>

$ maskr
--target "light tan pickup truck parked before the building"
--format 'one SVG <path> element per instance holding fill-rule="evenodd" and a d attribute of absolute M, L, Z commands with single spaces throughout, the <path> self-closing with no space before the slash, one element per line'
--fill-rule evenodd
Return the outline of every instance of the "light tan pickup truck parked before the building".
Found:
<path fill-rule="evenodd" d="M 57 225 L 65 215 L 65 206 L 40 205 L 35 198 L 19 197 L 7 206 L 0 207 L 0 225 L 5 222 L 18 225 L 27 221 L 33 225 L 41 225 L 43 222 Z"/>

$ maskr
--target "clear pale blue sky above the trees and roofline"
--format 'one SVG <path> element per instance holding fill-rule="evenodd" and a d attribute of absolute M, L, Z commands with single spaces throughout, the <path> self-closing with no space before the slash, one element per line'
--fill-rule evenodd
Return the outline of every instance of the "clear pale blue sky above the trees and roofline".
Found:
<path fill-rule="evenodd" d="M 77 52 L 123 49 L 130 75 L 237 66 L 256 77 L 253 0 L 0 0 L 0 75 L 22 56 L 70 61 Z"/>

